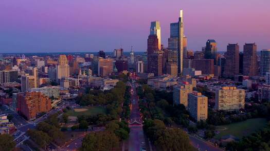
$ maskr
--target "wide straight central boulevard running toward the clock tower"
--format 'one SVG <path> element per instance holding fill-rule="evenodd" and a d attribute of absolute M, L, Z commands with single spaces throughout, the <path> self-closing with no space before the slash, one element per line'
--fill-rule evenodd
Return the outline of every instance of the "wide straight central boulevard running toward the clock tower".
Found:
<path fill-rule="evenodd" d="M 142 120 L 140 117 L 138 96 L 136 87 L 131 87 L 131 115 L 130 115 L 130 137 L 128 140 L 129 151 L 145 149 L 145 137 L 142 130 Z M 124 149 L 123 149 L 124 150 Z"/>

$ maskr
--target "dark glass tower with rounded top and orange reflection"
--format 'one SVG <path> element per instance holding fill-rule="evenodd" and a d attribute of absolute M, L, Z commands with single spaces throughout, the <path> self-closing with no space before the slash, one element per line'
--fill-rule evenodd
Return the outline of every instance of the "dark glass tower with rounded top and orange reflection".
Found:
<path fill-rule="evenodd" d="M 208 39 L 206 41 L 206 47 L 205 47 L 205 53 L 204 53 L 204 58 L 205 59 L 213 59 L 214 64 L 216 65 L 217 63 L 217 42 L 215 42 L 214 39 Z"/>

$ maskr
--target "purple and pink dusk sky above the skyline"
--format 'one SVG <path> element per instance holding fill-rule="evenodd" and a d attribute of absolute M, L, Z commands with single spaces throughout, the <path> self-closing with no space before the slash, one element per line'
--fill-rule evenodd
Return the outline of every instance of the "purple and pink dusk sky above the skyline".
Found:
<path fill-rule="evenodd" d="M 270 49 L 269 0 L 1 0 L 0 53 L 146 51 L 150 21 L 159 20 L 167 47 L 170 23 L 184 10 L 188 49 L 208 38 L 226 50 L 228 42 L 256 42 Z"/>

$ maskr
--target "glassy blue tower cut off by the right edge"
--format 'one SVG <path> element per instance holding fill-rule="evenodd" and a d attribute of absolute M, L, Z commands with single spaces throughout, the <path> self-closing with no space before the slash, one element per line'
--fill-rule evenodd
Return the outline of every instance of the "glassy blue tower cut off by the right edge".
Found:
<path fill-rule="evenodd" d="M 266 72 L 270 72 L 270 49 L 264 49 L 261 51 L 261 66 L 260 74 L 264 76 Z"/>

